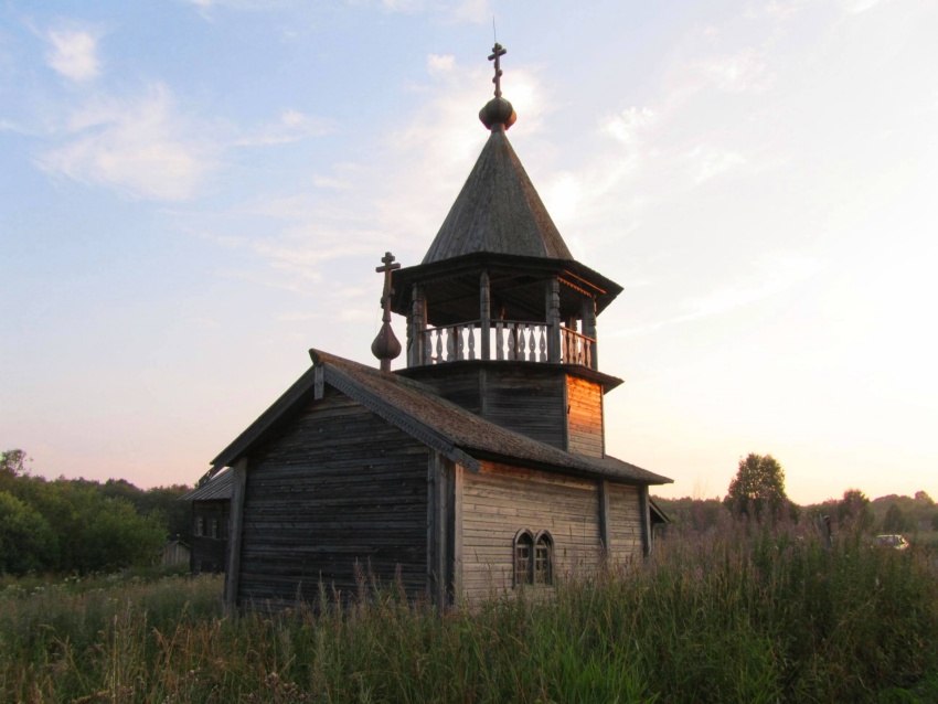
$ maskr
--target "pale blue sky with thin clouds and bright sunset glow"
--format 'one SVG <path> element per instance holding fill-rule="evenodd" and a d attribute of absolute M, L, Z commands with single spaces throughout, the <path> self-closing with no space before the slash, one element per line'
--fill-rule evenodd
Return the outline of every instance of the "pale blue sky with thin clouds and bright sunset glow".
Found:
<path fill-rule="evenodd" d="M 310 348 L 376 364 L 374 269 L 488 137 L 493 24 L 509 139 L 625 289 L 607 451 L 664 497 L 757 452 L 799 503 L 938 498 L 926 0 L 4 0 L 0 449 L 193 483 Z"/>

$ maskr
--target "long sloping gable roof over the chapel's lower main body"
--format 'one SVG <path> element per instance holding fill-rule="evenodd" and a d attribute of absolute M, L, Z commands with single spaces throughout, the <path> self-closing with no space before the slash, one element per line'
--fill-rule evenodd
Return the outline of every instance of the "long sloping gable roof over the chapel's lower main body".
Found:
<path fill-rule="evenodd" d="M 315 395 L 317 375 L 323 384 L 353 398 L 412 437 L 470 470 L 478 460 L 611 479 L 627 483 L 670 483 L 655 474 L 614 457 L 594 458 L 567 452 L 527 436 L 507 430 L 441 398 L 436 392 L 398 374 L 310 350 L 315 366 L 225 448 L 212 465 L 233 465 L 258 441 L 269 437 L 299 404 Z"/>

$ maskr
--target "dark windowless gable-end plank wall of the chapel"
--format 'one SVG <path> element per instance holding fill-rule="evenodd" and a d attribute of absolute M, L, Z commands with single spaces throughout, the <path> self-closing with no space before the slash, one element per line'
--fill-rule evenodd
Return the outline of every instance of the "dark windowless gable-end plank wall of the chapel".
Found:
<path fill-rule="evenodd" d="M 427 587 L 428 452 L 327 387 L 252 454 L 238 601 L 315 598 L 323 582 L 355 591 L 359 569 L 399 570 L 408 594 Z"/>

